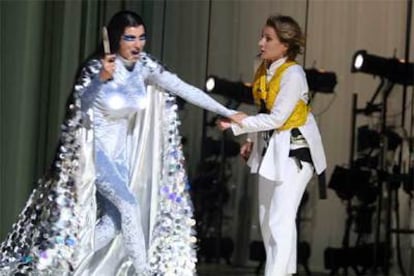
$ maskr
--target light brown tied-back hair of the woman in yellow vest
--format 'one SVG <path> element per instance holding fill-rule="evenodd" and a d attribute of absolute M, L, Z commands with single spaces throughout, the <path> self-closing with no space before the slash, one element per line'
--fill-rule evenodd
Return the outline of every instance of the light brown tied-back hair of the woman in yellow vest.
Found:
<path fill-rule="evenodd" d="M 295 60 L 305 46 L 305 36 L 299 24 L 290 16 L 272 15 L 266 20 L 266 26 L 272 27 L 280 42 L 287 46 L 288 60 Z"/>

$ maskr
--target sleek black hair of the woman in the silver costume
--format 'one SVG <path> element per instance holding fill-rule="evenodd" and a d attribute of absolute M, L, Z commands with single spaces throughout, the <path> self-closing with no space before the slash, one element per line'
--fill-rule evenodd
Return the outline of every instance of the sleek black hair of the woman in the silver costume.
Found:
<path fill-rule="evenodd" d="M 114 14 L 107 25 L 111 52 L 118 52 L 119 41 L 126 27 L 137 27 L 141 25 L 145 29 L 144 20 L 135 12 L 125 10 Z"/>

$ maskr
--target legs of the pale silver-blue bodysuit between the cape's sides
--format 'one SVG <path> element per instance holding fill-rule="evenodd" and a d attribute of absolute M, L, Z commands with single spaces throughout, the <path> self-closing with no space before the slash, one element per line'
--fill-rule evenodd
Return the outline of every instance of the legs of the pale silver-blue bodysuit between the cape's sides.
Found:
<path fill-rule="evenodd" d="M 108 245 L 121 230 L 124 247 L 135 270 L 146 269 L 145 238 L 135 196 L 128 190 L 122 170 L 109 162 L 105 154 L 97 152 L 97 200 L 102 217 L 95 228 L 95 249 Z M 98 161 L 99 160 L 99 161 Z"/>

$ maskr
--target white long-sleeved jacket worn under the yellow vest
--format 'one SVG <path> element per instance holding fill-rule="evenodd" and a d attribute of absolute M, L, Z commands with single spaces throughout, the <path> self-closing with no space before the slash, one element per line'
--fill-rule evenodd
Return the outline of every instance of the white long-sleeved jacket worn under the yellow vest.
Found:
<path fill-rule="evenodd" d="M 285 61 L 286 59 L 283 58 L 272 63 L 267 70 L 268 80 Z M 275 130 L 263 157 L 261 156 L 263 141 L 261 141 L 262 138 L 259 132 L 281 127 L 300 99 L 308 102 L 308 91 L 309 88 L 302 67 L 299 65 L 290 66 L 282 76 L 280 91 L 270 114 L 260 113 L 249 116 L 242 121 L 242 127 L 232 124 L 234 135 L 249 133 L 249 138 L 253 141 L 252 153 L 247 162 L 252 173 L 258 172 L 261 176 L 273 181 L 285 180 L 284 173 L 286 172 L 290 150 L 290 130 Z M 326 157 L 318 126 L 311 113 L 309 113 L 305 125 L 299 127 L 299 130 L 309 145 L 316 173 L 322 173 L 326 169 Z"/>

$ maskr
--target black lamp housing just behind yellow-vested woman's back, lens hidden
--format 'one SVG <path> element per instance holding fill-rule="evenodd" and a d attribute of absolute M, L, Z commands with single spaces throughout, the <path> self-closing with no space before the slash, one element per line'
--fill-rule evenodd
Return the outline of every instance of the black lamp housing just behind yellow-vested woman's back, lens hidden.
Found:
<path fill-rule="evenodd" d="M 305 69 L 309 90 L 322 93 L 333 93 L 337 84 L 335 72 L 311 68 Z"/>

